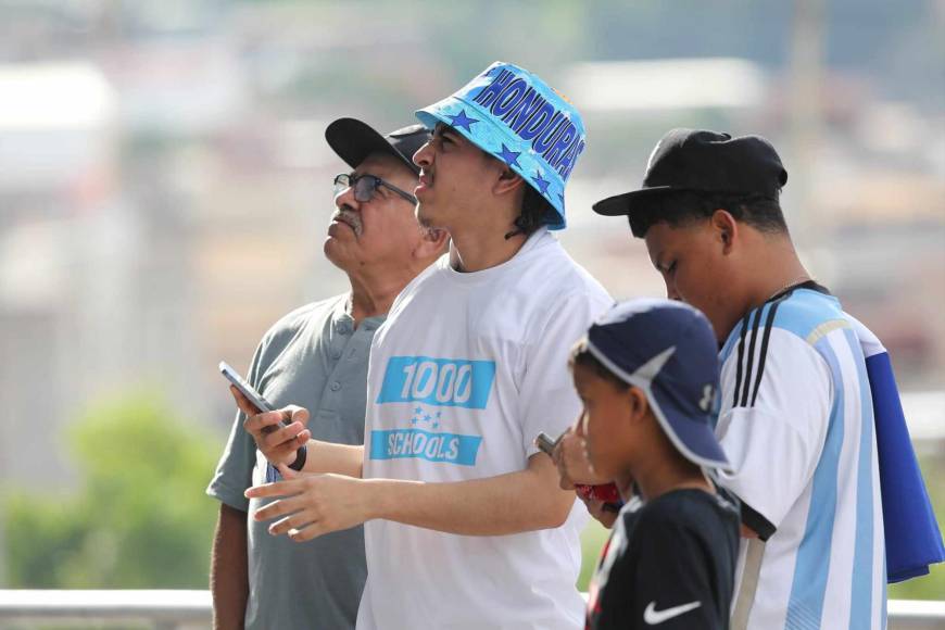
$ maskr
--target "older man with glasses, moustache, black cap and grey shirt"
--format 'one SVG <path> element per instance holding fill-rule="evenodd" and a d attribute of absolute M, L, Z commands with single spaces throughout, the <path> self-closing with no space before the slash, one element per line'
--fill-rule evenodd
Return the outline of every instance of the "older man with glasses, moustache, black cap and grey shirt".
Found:
<path fill-rule="evenodd" d="M 249 380 L 275 406 L 299 405 L 297 414 L 311 414 L 306 434 L 360 445 L 374 333 L 401 289 L 443 253 L 446 237 L 417 224 L 416 199 L 407 192 L 419 173 L 411 158 L 429 139 L 421 125 L 385 137 L 340 118 L 325 137 L 354 169 L 335 178 L 337 209 L 324 245 L 351 290 L 276 323 L 253 355 Z M 211 569 L 214 626 L 353 628 L 366 576 L 362 528 L 300 546 L 248 521 L 247 513 L 266 501 L 248 501 L 243 491 L 278 472 L 243 430 L 245 416 L 256 411 L 249 401 L 238 403 L 241 412 L 207 488 L 220 502 Z"/>

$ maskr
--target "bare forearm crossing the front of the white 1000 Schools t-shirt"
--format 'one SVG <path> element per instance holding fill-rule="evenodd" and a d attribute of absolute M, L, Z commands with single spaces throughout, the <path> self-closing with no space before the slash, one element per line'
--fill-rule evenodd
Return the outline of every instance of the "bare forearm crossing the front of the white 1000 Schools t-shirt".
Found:
<path fill-rule="evenodd" d="M 365 481 L 371 518 L 463 536 L 504 536 L 558 527 L 575 494 L 557 487 L 551 458 L 538 454 L 529 467 L 486 479 L 425 483 L 394 479 Z"/>

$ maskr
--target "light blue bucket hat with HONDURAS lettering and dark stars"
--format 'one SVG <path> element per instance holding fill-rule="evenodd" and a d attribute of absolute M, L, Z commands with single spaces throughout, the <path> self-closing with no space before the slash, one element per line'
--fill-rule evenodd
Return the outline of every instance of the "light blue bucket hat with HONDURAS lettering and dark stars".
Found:
<path fill-rule="evenodd" d="M 453 96 L 417 111 L 432 129 L 445 123 L 502 160 L 557 212 L 550 229 L 563 229 L 565 184 L 584 150 L 578 110 L 537 75 L 496 61 Z"/>

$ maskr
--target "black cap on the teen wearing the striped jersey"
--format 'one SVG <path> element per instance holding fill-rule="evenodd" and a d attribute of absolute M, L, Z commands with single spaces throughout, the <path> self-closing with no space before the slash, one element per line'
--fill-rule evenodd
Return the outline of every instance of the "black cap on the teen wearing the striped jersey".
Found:
<path fill-rule="evenodd" d="M 650 154 L 640 190 L 604 199 L 593 207 L 607 216 L 632 214 L 660 197 L 681 191 L 777 201 L 786 182 L 788 171 L 778 152 L 760 136 L 732 138 L 704 129 L 672 129 Z"/>

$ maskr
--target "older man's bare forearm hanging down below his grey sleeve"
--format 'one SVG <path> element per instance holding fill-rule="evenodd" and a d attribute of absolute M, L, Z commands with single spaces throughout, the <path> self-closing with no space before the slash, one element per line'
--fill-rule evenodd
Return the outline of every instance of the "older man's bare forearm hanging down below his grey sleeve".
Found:
<path fill-rule="evenodd" d="M 249 596 L 247 513 L 219 505 L 210 566 L 215 630 L 241 629 Z"/>

